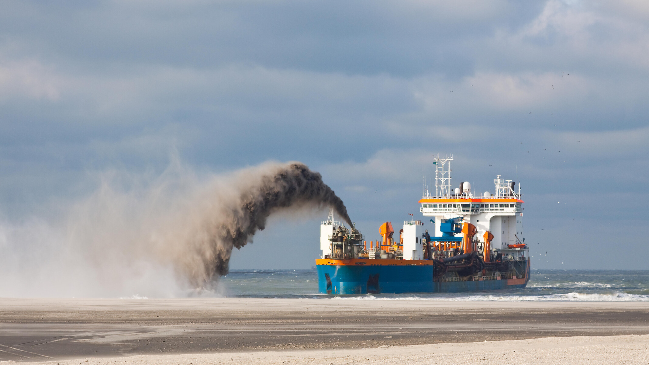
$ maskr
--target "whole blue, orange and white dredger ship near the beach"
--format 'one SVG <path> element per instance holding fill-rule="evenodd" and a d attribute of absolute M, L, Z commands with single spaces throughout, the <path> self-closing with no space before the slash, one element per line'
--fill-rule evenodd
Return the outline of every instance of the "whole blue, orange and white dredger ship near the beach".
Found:
<path fill-rule="evenodd" d="M 379 227 L 365 240 L 355 227 L 321 222 L 321 258 L 315 260 L 321 293 L 448 293 L 524 288 L 530 280 L 523 238 L 520 183 L 494 179 L 494 194 L 474 197 L 471 184 L 452 188 L 452 157 L 435 157 L 435 195 L 424 188 L 423 220 Z"/>

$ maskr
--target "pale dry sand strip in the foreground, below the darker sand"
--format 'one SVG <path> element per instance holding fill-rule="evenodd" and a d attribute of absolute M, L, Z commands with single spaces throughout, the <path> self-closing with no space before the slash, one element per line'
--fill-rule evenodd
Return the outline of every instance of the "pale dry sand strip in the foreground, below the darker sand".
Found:
<path fill-rule="evenodd" d="M 649 336 L 538 338 L 363 349 L 136 355 L 23 364 L 648 364 Z M 14 363 L 13 361 L 2 362 Z"/>

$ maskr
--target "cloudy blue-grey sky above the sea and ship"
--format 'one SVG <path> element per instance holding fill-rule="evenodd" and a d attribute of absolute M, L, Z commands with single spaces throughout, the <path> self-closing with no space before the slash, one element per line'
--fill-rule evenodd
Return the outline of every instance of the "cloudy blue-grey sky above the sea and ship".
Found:
<path fill-rule="evenodd" d="M 376 240 L 440 153 L 454 186 L 520 182 L 533 268 L 646 269 L 648 81 L 640 0 L 2 1 L 0 247 L 106 179 L 269 160 Z M 310 268 L 326 215 L 271 217 L 231 268 Z"/>

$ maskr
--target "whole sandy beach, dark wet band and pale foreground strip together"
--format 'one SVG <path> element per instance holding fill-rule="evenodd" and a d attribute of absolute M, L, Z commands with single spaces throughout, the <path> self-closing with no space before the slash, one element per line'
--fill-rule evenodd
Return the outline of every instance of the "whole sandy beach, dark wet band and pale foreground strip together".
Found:
<path fill-rule="evenodd" d="M 0 326 L 0 360 L 19 362 L 469 364 L 497 359 L 503 364 L 609 364 L 614 357 L 617 364 L 646 364 L 649 306 L 640 302 L 1 299 Z"/>

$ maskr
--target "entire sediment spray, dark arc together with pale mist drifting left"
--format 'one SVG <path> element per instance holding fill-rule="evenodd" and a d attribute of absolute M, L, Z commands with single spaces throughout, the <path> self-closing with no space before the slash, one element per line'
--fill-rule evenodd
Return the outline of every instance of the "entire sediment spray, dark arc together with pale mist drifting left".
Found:
<path fill-rule="evenodd" d="M 125 188 L 124 179 L 107 173 L 56 214 L 0 223 L 0 296 L 219 295 L 232 249 L 274 212 L 332 207 L 350 223 L 321 175 L 299 162 L 202 179 L 175 163 L 153 181 Z"/>

